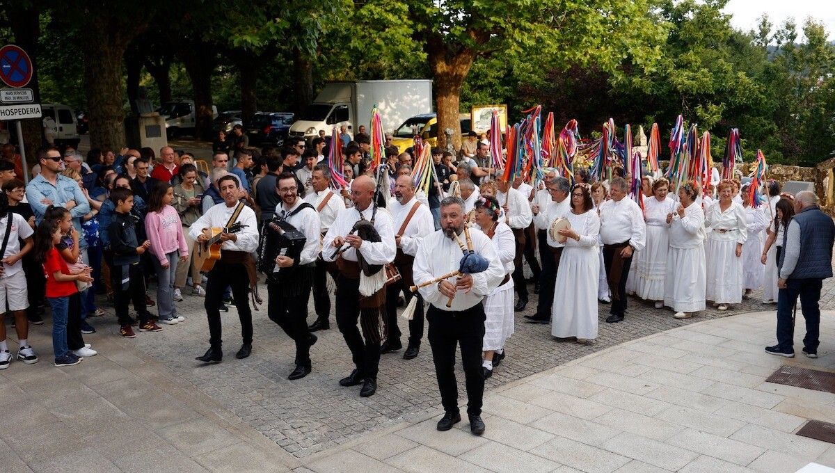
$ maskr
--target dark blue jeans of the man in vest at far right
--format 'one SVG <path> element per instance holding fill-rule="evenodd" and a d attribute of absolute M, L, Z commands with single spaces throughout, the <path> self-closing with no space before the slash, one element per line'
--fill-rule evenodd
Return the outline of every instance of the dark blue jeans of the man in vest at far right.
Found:
<path fill-rule="evenodd" d="M 807 352 L 817 352 L 821 325 L 821 308 L 817 302 L 821 299 L 822 282 L 822 279 L 788 279 L 786 289 L 780 289 L 777 295 L 777 346 L 781 350 L 794 353 L 792 310 L 800 296 L 800 307 L 806 319 L 803 346 Z"/>

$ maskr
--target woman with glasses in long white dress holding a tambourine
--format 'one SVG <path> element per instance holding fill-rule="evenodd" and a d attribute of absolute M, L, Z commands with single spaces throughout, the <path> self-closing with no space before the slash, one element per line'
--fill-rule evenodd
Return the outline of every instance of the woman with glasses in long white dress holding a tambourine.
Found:
<path fill-rule="evenodd" d="M 597 338 L 600 218 L 593 208 L 588 187 L 574 184 L 571 211 L 565 214 L 571 228 L 559 230 L 568 239 L 559 259 L 551 309 L 551 335 L 576 337 L 580 343 Z"/>

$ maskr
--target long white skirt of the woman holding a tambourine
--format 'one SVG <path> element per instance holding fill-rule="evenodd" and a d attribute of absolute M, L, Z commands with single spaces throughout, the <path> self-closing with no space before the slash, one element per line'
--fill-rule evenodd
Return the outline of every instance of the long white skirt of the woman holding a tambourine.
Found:
<path fill-rule="evenodd" d="M 560 338 L 597 338 L 598 247 L 567 246 L 559 259 L 551 335 Z"/>

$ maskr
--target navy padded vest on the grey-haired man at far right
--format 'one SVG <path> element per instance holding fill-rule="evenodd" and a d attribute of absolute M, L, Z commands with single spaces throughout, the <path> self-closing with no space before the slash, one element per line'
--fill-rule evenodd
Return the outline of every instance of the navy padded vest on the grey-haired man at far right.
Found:
<path fill-rule="evenodd" d="M 801 210 L 792 217 L 800 226 L 800 256 L 791 279 L 825 279 L 832 277 L 832 244 L 835 242 L 835 223 L 832 217 L 817 207 Z M 789 224 L 792 222 L 789 221 Z M 788 229 L 783 232 L 783 252 L 779 267 L 786 256 Z"/>

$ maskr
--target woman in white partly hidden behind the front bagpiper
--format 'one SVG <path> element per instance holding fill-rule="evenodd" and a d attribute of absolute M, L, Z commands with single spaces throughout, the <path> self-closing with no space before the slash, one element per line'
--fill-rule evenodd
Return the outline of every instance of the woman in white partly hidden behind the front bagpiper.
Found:
<path fill-rule="evenodd" d="M 504 359 L 504 342 L 514 333 L 514 256 L 516 239 L 514 232 L 498 219 L 501 207 L 493 196 L 478 198 L 475 203 L 475 222 L 478 228 L 493 241 L 499 261 L 504 266 L 504 281 L 484 298 L 484 339 L 482 342 L 482 366 L 484 378 L 493 375 L 493 361 Z"/>

